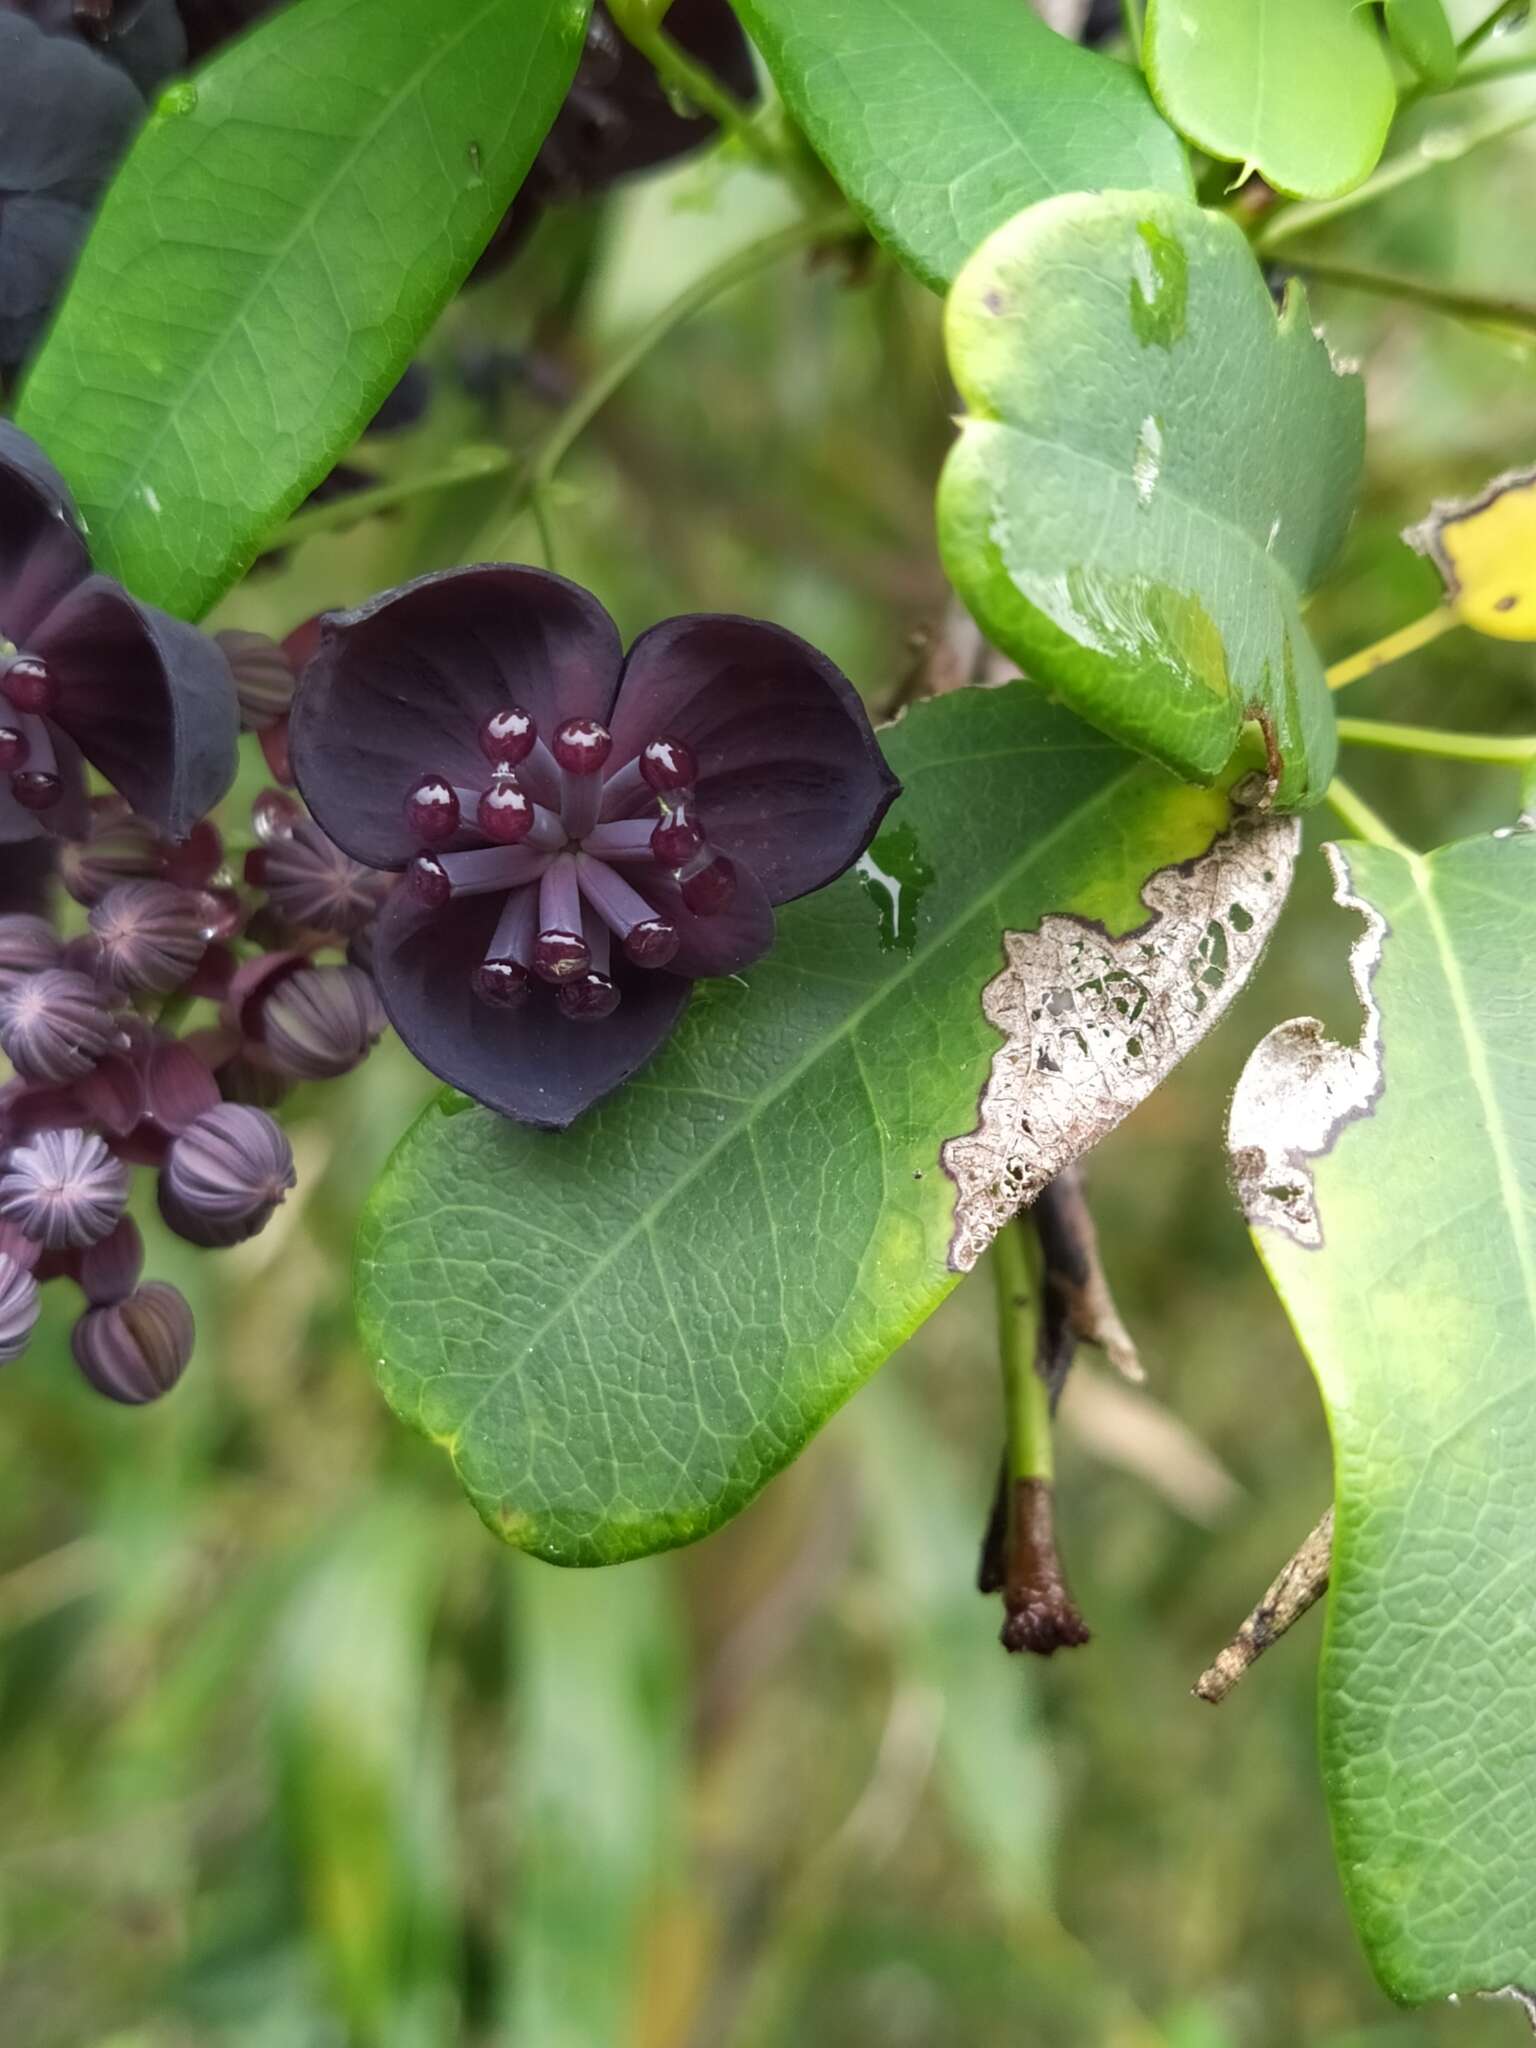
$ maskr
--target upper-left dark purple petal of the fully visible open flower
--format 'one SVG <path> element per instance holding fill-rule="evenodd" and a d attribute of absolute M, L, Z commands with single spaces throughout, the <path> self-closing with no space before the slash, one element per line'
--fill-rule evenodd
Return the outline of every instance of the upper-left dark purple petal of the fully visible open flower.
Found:
<path fill-rule="evenodd" d="M 479 727 L 506 705 L 541 733 L 606 721 L 621 659 L 598 600 L 545 569 L 444 569 L 332 614 L 293 705 L 303 799 L 354 860 L 403 868 L 418 852 L 406 791 L 420 776 L 479 786 Z"/>

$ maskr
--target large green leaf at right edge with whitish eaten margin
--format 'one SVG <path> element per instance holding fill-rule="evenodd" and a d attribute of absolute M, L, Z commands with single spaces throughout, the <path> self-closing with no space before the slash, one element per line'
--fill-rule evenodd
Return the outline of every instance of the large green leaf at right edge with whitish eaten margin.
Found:
<path fill-rule="evenodd" d="M 1536 834 L 1335 872 L 1360 1044 L 1280 1026 L 1231 1120 L 1333 1430 L 1333 1835 L 1393 1997 L 1536 1987 Z"/>

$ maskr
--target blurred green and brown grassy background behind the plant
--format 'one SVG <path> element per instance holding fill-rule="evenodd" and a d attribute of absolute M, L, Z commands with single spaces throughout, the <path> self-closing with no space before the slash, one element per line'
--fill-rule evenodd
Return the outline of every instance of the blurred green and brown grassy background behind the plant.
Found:
<path fill-rule="evenodd" d="M 1528 293 L 1534 174 L 1530 143 L 1442 164 L 1329 252 Z M 717 156 L 551 217 L 434 338 L 426 424 L 369 459 L 530 446 L 782 207 Z M 1536 459 L 1536 356 L 1380 299 L 1315 303 L 1370 385 L 1364 504 L 1315 608 L 1339 655 L 1436 598 L 1399 528 Z M 934 299 L 883 262 L 786 266 L 598 418 L 549 504 L 557 565 L 627 633 L 780 618 L 879 705 L 942 625 L 950 408 Z M 541 559 L 506 506 L 504 479 L 477 483 L 313 541 L 221 623 L 283 633 L 422 567 Z M 1534 682 L 1530 649 L 1454 635 L 1350 711 L 1528 731 Z M 1419 844 L 1513 811 L 1511 776 L 1346 766 Z M 1327 1499 L 1221 1126 L 1270 1024 L 1354 1028 L 1350 936 L 1313 852 L 1217 1040 L 1092 1161 L 1151 1389 L 1087 1360 L 1067 1393 L 1063 1542 L 1096 1638 L 1049 1667 L 1006 1659 L 971 1591 L 999 1432 L 985 1280 L 731 1530 L 578 1577 L 498 1548 L 358 1356 L 354 1219 L 430 1085 L 399 1047 L 293 1098 L 301 1184 L 266 1235 L 199 1257 L 145 1219 L 152 1272 L 199 1317 L 174 1399 L 92 1397 L 57 1303 L 4 1374 L 6 2048 L 1520 2038 L 1505 2007 L 1399 2015 L 1368 1978 L 1317 1782 L 1317 1622 L 1221 1712 L 1188 1692 Z"/>

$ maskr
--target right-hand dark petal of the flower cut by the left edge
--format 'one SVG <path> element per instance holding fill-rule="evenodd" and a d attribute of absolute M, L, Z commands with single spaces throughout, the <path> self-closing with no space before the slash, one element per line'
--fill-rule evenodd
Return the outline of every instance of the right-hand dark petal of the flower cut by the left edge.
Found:
<path fill-rule="evenodd" d="M 139 817 L 186 838 L 236 774 L 236 688 L 219 647 L 90 575 L 47 614 L 33 649 L 59 692 L 55 723 Z"/>

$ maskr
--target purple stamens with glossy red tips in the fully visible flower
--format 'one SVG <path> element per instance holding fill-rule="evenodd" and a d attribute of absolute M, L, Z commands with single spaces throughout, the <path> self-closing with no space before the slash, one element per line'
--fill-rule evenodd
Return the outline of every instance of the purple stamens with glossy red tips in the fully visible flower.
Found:
<path fill-rule="evenodd" d="M 545 985 L 571 1022 L 612 1016 L 614 942 L 635 967 L 666 967 L 682 942 L 668 901 L 715 918 L 735 897 L 735 864 L 698 815 L 698 760 L 662 735 L 614 762 L 606 725 L 565 719 L 545 739 L 520 705 L 485 719 L 479 750 L 479 786 L 428 772 L 406 791 L 410 887 L 430 909 L 506 897 L 473 971 L 481 1001 L 516 1008 Z"/>

